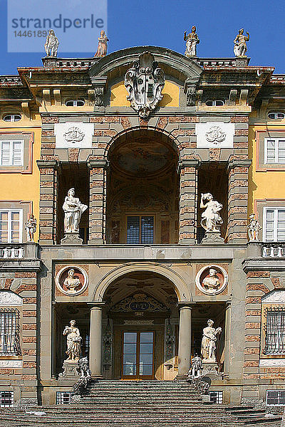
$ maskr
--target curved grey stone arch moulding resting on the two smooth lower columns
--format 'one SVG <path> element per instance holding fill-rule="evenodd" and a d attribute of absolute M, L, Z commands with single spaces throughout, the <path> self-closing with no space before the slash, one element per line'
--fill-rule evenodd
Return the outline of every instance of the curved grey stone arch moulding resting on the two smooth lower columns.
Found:
<path fill-rule="evenodd" d="M 156 273 L 167 278 L 173 285 L 178 302 L 191 302 L 192 294 L 185 280 L 166 265 L 157 263 L 128 263 L 109 271 L 98 283 L 93 292 L 93 302 L 102 302 L 106 290 L 115 280 L 127 273 Z"/>

